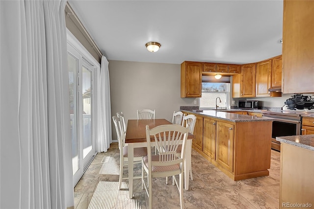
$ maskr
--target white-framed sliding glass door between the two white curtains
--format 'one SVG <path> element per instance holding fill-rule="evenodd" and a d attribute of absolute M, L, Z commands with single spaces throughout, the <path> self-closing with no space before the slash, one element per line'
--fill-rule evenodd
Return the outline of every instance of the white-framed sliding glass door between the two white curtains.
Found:
<path fill-rule="evenodd" d="M 70 125 L 74 185 L 95 155 L 95 68 L 68 44 Z"/>

